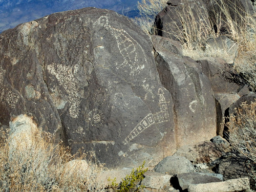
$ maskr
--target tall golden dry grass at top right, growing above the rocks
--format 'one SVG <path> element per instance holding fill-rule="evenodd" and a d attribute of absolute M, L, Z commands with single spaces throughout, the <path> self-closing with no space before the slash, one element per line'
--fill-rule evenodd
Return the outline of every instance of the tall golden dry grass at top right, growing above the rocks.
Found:
<path fill-rule="evenodd" d="M 195 60 L 202 57 L 220 57 L 225 60 L 230 56 L 230 50 L 222 49 L 224 46 L 217 45 L 217 42 L 216 46 L 208 44 L 209 39 L 215 39 L 221 35 L 235 42 L 240 55 L 244 52 L 255 51 L 256 39 L 253 34 L 256 31 L 256 22 L 253 15 L 248 15 L 236 6 L 235 1 L 227 1 L 228 4 L 223 0 L 214 2 L 215 5 L 211 8 L 214 20 L 209 20 L 204 13 L 195 12 L 195 10 L 200 10 L 199 8 L 182 6 L 181 11 L 178 12 L 183 28 L 173 35 L 182 42 L 184 55 Z"/>

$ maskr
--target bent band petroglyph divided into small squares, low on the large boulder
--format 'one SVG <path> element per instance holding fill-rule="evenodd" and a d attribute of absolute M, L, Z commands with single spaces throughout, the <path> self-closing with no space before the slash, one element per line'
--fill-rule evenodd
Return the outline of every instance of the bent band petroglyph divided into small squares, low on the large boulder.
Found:
<path fill-rule="evenodd" d="M 142 133 L 151 125 L 168 122 L 170 120 L 168 109 L 167 109 L 167 103 L 164 97 L 163 90 L 161 88 L 158 90 L 158 95 L 159 95 L 158 105 L 160 107 L 160 111 L 155 114 L 152 114 L 152 113 L 147 114 L 146 117 L 144 117 L 135 126 L 133 131 L 124 139 L 123 141 L 124 144 L 127 144 L 130 141 L 132 141 L 135 137 L 137 137 L 140 133 Z"/>

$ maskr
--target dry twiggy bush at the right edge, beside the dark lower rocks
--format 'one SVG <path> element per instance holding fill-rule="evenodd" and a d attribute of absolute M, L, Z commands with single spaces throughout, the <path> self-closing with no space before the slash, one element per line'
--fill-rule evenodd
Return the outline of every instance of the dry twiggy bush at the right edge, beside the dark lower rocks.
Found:
<path fill-rule="evenodd" d="M 252 178 L 256 181 L 256 99 L 242 103 L 234 110 L 228 123 L 229 141 L 242 155 L 251 162 Z"/>

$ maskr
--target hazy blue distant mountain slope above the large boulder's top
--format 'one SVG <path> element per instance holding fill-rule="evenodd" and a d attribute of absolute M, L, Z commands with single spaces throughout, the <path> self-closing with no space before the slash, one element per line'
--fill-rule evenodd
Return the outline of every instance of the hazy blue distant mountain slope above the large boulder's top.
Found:
<path fill-rule="evenodd" d="M 84 7 L 110 9 L 134 17 L 138 14 L 137 2 L 138 0 L 0 0 L 0 33 L 54 12 Z"/>

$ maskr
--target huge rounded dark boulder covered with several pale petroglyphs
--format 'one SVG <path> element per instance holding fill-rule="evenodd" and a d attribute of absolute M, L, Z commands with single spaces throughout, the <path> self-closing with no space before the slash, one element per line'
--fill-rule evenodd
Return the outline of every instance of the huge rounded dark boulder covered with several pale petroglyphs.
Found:
<path fill-rule="evenodd" d="M 29 114 L 72 152 L 136 167 L 175 151 L 173 100 L 150 37 L 96 8 L 48 15 L 0 35 L 0 122 Z"/>

